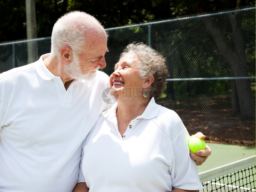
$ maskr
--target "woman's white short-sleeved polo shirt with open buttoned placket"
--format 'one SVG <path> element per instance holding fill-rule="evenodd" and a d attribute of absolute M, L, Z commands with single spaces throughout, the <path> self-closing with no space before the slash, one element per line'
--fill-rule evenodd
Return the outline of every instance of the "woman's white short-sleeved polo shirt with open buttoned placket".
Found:
<path fill-rule="evenodd" d="M 153 97 L 121 137 L 116 109 L 102 113 L 83 144 L 80 167 L 91 191 L 202 188 L 189 156 L 189 134 L 177 113 L 157 105 Z"/>

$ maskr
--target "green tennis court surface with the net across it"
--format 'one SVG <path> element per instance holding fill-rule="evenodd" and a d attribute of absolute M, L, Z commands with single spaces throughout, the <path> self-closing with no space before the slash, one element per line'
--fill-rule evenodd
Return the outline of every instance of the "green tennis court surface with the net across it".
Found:
<path fill-rule="evenodd" d="M 255 147 L 207 145 L 212 154 L 198 167 L 204 186 L 199 192 L 255 191 Z"/>

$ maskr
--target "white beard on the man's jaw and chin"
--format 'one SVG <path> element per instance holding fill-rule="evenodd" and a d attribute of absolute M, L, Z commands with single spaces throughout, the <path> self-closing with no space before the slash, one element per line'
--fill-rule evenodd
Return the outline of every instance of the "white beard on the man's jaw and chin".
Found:
<path fill-rule="evenodd" d="M 92 71 L 89 71 L 87 74 L 83 74 L 81 70 L 81 62 L 78 57 L 74 55 L 74 59 L 72 62 L 64 65 L 64 70 L 68 74 L 68 76 L 72 79 L 85 79 L 91 81 L 95 78 L 96 72 L 93 71 L 99 70 L 99 67 L 94 68 Z"/>

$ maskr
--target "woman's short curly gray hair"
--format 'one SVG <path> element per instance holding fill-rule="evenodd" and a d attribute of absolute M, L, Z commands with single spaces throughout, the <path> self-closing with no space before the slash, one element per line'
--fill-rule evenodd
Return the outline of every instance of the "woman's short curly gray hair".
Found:
<path fill-rule="evenodd" d="M 151 75 L 154 76 L 154 82 L 151 85 L 153 94 L 150 95 L 150 98 L 159 98 L 165 89 L 166 79 L 169 76 L 165 57 L 143 43 L 129 44 L 121 53 L 120 59 L 128 53 L 137 55 L 141 79 L 147 79 Z"/>

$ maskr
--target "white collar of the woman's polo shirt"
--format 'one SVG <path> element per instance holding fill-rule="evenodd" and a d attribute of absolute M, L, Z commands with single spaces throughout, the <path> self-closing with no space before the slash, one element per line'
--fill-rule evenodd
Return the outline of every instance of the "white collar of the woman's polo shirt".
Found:
<path fill-rule="evenodd" d="M 152 119 L 153 117 L 157 116 L 160 108 L 161 108 L 161 105 L 156 104 L 154 97 L 152 97 L 145 111 L 142 113 L 142 115 L 138 116 L 137 118 Z M 117 103 L 115 103 L 110 109 L 102 112 L 102 115 L 105 118 L 112 119 L 113 117 L 116 116 L 116 109 L 117 109 Z"/>

